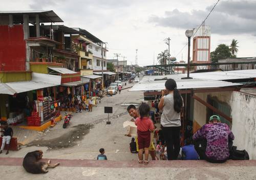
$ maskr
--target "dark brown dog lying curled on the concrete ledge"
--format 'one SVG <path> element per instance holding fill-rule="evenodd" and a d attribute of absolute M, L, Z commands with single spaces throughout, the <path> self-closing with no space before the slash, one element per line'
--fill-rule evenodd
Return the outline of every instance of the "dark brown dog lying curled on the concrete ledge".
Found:
<path fill-rule="evenodd" d="M 47 168 L 55 168 L 59 165 L 56 163 L 55 165 L 51 165 L 51 161 L 49 160 L 47 163 L 39 162 L 42 159 L 42 151 L 32 151 L 26 154 L 23 160 L 23 167 L 27 172 L 33 174 L 47 173 Z"/>

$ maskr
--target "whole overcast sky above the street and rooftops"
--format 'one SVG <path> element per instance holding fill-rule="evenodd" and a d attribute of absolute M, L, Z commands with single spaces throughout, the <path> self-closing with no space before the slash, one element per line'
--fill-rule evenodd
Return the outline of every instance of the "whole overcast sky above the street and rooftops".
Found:
<path fill-rule="evenodd" d="M 139 65 L 155 63 L 157 54 L 167 49 L 164 39 L 170 37 L 170 54 L 187 59 L 186 29 L 200 25 L 217 0 L 0 0 L 0 10 L 54 10 L 64 25 L 88 30 L 108 42 L 107 57 L 114 53 Z M 256 1 L 221 0 L 205 25 L 211 27 L 211 51 L 220 43 L 229 45 L 237 39 L 238 57 L 256 56 Z M 181 51 L 182 50 L 182 51 Z M 122 59 L 122 58 L 121 58 Z"/>

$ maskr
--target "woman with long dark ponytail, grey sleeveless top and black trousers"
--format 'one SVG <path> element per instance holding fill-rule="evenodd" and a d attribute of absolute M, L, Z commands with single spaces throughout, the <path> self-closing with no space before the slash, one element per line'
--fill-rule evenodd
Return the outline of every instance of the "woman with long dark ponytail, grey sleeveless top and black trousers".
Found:
<path fill-rule="evenodd" d="M 158 108 L 162 110 L 161 126 L 167 146 L 168 160 L 176 160 L 180 151 L 180 112 L 183 99 L 177 89 L 175 80 L 168 79 Z"/>

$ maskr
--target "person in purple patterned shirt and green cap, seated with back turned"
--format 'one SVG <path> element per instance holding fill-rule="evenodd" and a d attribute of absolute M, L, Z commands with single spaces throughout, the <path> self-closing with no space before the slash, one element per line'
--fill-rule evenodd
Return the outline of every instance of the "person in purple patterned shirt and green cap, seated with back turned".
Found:
<path fill-rule="evenodd" d="M 229 158 L 229 143 L 234 140 L 234 135 L 227 124 L 221 123 L 219 116 L 213 115 L 209 123 L 193 135 L 193 140 L 200 160 L 224 163 Z"/>

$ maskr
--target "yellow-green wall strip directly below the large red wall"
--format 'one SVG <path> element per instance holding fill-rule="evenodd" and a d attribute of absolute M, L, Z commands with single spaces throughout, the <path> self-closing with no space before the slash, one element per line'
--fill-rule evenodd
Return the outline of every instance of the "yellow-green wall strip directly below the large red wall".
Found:
<path fill-rule="evenodd" d="M 30 81 L 31 72 L 0 72 L 0 82 Z"/>

